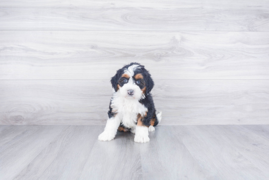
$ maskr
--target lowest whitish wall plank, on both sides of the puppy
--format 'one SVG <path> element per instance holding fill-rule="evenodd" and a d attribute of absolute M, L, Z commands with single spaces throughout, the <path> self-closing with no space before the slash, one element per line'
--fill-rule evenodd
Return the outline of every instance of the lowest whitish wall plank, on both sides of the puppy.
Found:
<path fill-rule="evenodd" d="M 1 80 L 2 125 L 104 125 L 109 80 Z M 269 124 L 269 80 L 156 80 L 160 125 Z"/>

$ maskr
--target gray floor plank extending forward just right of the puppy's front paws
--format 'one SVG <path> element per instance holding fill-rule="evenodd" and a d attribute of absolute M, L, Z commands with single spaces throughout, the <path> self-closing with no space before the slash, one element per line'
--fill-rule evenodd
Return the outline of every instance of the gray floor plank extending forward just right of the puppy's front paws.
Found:
<path fill-rule="evenodd" d="M 204 180 L 205 170 L 177 137 L 172 126 L 157 126 L 150 143 L 139 144 L 143 180 Z M 175 128 L 178 128 L 175 127 Z"/>

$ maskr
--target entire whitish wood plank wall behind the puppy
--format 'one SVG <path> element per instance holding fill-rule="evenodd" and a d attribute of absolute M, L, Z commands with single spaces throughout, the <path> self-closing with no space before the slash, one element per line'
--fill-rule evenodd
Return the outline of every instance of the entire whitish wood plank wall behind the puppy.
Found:
<path fill-rule="evenodd" d="M 0 124 L 104 125 L 130 62 L 161 125 L 269 124 L 269 0 L 1 0 Z"/>

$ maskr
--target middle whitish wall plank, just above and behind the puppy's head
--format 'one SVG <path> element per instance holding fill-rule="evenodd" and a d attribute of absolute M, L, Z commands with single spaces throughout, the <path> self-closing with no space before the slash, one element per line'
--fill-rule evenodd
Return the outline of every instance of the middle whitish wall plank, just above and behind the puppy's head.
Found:
<path fill-rule="evenodd" d="M 0 79 L 269 79 L 269 32 L 0 31 Z"/>

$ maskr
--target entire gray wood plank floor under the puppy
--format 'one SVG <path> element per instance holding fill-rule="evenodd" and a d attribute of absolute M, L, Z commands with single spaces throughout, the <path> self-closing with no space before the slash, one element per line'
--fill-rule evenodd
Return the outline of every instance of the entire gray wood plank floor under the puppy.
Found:
<path fill-rule="evenodd" d="M 0 179 L 269 179 L 269 125 L 157 126 L 143 144 L 103 128 L 0 126 Z"/>

